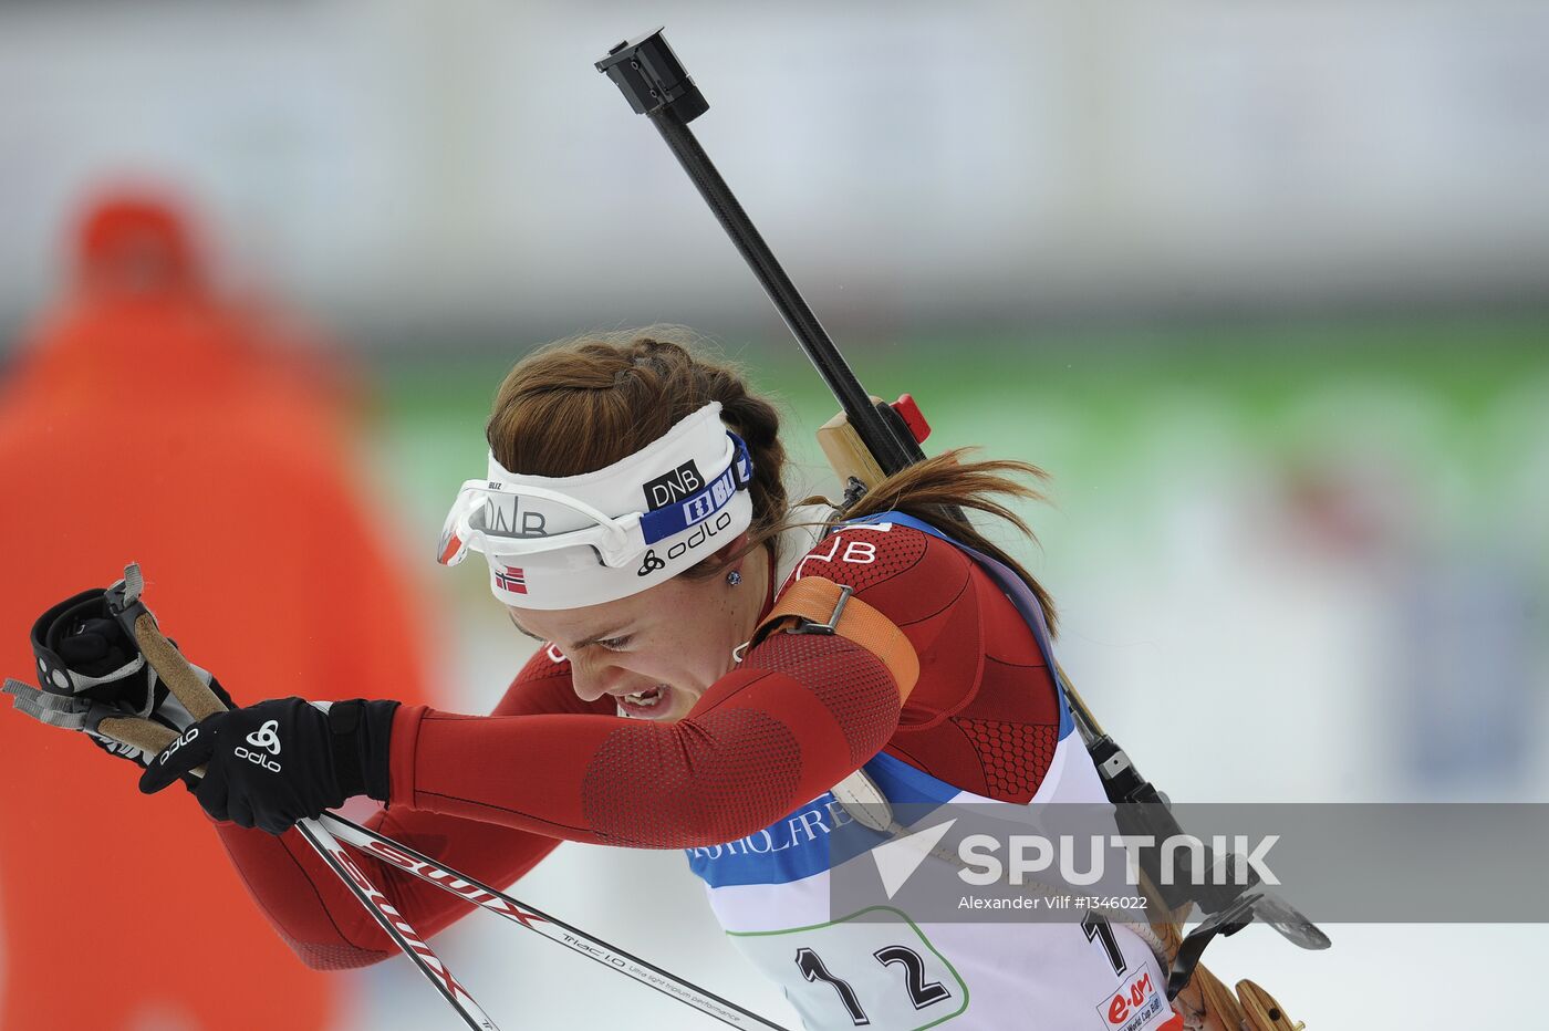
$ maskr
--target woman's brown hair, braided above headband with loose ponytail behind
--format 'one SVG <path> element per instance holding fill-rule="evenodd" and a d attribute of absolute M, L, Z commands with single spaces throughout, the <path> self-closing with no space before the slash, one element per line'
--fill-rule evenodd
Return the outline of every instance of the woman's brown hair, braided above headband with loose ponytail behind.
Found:
<path fill-rule="evenodd" d="M 781 531 L 792 525 L 779 412 L 748 393 L 733 365 L 658 339 L 666 334 L 691 339 L 678 327 L 652 327 L 559 341 L 524 358 L 496 392 L 485 426 L 496 460 L 527 475 L 592 472 L 635 454 L 685 416 L 720 401 L 722 421 L 747 441 L 753 457 L 753 525 L 742 554 L 765 543 L 776 546 Z M 965 454 L 965 449 L 950 450 L 888 477 L 841 517 L 906 512 L 999 559 L 1033 590 L 1053 629 L 1049 593 L 960 514 L 960 509 L 974 509 L 996 516 L 1032 537 L 1027 523 L 996 495 L 1041 500 L 1038 491 L 1018 483 L 1011 474 L 1035 480 L 1047 475 L 1025 461 L 963 461 Z M 714 562 L 700 562 L 685 576 L 708 576 L 719 568 Z"/>

